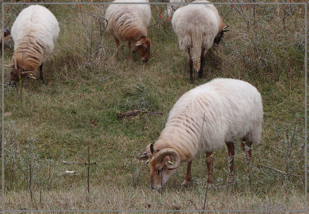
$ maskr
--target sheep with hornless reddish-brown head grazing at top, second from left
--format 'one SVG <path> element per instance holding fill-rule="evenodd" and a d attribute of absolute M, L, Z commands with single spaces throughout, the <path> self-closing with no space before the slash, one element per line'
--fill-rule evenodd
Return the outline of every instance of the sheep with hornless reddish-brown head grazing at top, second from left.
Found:
<path fill-rule="evenodd" d="M 116 0 L 114 2 L 141 2 L 148 0 Z M 151 20 L 151 10 L 149 4 L 112 4 L 105 13 L 108 20 L 106 30 L 113 35 L 116 41 L 116 48 L 120 41 L 128 41 L 129 60 L 132 61 L 133 50 L 146 63 L 150 57 L 150 39 L 147 38 L 146 27 Z"/>

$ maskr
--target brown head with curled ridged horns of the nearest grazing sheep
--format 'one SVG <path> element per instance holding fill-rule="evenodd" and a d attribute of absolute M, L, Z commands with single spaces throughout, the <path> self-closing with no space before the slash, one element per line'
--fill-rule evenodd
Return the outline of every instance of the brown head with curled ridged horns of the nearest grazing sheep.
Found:
<path fill-rule="evenodd" d="M 148 159 L 150 168 L 150 188 L 160 190 L 173 175 L 180 165 L 178 152 L 171 148 L 164 148 L 159 151 L 153 149 L 153 144 L 146 148 L 144 156 L 138 157 L 140 160 Z"/>

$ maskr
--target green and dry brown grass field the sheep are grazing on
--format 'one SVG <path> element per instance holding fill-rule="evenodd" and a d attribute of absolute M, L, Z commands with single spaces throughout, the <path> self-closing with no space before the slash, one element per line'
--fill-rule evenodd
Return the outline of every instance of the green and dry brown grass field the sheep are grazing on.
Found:
<path fill-rule="evenodd" d="M 87 18 L 88 47 L 87 30 L 70 6 L 49 7 L 61 30 L 53 55 L 43 66 L 46 84 L 23 79 L 15 87 L 5 85 L 4 109 L 12 113 L 4 124 L 5 209 L 202 209 L 206 193 L 206 209 L 255 210 L 268 202 L 303 209 L 303 7 L 256 6 L 253 19 L 250 6 L 240 14 L 228 5 L 217 5 L 231 31 L 207 52 L 203 78 L 194 74 L 193 85 L 189 84 L 188 59 L 178 47 L 171 23 L 161 23 L 163 18 L 158 16 L 164 6 L 151 7 L 153 26 L 148 28 L 148 37 L 152 46 L 146 64 L 137 54 L 132 62 L 128 60 L 126 43 L 115 54 L 112 36 L 104 32 L 100 41 L 99 21 L 77 10 Z M 83 11 L 97 16 L 103 11 L 98 9 L 83 6 Z M 8 13 L 13 20 L 17 14 Z M 100 54 L 93 55 L 97 50 Z M 12 53 L 5 49 L 5 64 L 10 63 Z M 253 147 L 251 164 L 247 166 L 235 142 L 231 183 L 227 182 L 224 147 L 214 152 L 215 181 L 209 190 L 205 154 L 201 154 L 193 161 L 193 181 L 188 187 L 181 186 L 183 166 L 162 193 L 153 191 L 148 166 L 136 156 L 159 137 L 178 98 L 215 77 L 248 81 L 262 95 L 262 142 Z M 9 73 L 5 82 L 8 78 Z M 163 115 L 117 118 L 117 113 L 134 109 Z M 61 162 L 87 162 L 88 143 L 90 162 L 97 164 L 90 165 L 89 194 L 87 166 Z M 30 162 L 32 201 L 27 184 Z M 262 165 L 284 172 L 288 166 L 289 173 L 301 177 L 282 175 Z M 66 170 L 76 174 L 65 175 Z"/>

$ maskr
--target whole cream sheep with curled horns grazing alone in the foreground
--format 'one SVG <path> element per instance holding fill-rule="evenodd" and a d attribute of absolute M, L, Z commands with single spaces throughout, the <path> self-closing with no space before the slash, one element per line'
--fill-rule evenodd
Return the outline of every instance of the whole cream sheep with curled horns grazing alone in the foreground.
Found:
<path fill-rule="evenodd" d="M 233 140 L 248 146 L 248 161 L 252 144 L 259 144 L 262 132 L 262 99 L 248 82 L 216 78 L 184 93 L 171 109 L 159 139 L 146 147 L 140 160 L 148 160 L 150 187 L 159 190 L 182 163 L 188 163 L 183 185 L 191 180 L 192 160 L 206 152 L 209 184 L 212 153 L 224 144 L 230 160 L 230 176 L 234 176 Z"/>

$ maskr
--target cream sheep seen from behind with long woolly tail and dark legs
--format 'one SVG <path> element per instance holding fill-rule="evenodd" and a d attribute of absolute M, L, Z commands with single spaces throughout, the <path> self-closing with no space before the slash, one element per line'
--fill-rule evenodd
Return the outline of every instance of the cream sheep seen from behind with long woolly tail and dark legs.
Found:
<path fill-rule="evenodd" d="M 188 56 L 190 69 L 190 83 L 193 83 L 192 66 L 203 75 L 205 52 L 218 44 L 223 32 L 229 25 L 224 25 L 216 7 L 206 0 L 194 1 L 201 4 L 189 4 L 178 8 L 172 18 L 173 29 L 178 36 L 179 47 Z M 190 52 L 191 50 L 191 52 Z M 200 63 L 201 60 L 201 63 Z"/>

